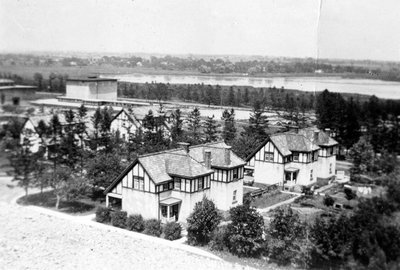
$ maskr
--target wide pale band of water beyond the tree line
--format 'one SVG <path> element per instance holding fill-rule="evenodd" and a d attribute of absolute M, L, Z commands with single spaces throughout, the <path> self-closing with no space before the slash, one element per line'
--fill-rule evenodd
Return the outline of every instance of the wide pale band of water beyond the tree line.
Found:
<path fill-rule="evenodd" d="M 276 87 L 301 91 L 323 91 L 376 95 L 379 98 L 400 99 L 400 82 L 370 79 L 345 79 L 341 77 L 241 77 L 213 75 L 148 75 L 126 74 L 107 76 L 125 82 L 170 83 L 170 84 L 211 84 L 253 87 Z"/>

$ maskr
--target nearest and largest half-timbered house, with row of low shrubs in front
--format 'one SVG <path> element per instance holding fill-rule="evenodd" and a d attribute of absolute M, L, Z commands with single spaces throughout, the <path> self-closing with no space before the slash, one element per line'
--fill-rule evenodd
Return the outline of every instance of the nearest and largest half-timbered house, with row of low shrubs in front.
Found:
<path fill-rule="evenodd" d="M 203 196 L 221 210 L 242 204 L 242 159 L 225 143 L 139 156 L 106 189 L 107 206 L 162 222 L 185 221 Z"/>

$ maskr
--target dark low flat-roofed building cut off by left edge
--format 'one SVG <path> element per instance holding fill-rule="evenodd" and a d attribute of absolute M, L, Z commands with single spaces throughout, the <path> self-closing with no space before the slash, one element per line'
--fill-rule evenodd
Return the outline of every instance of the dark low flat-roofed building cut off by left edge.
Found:
<path fill-rule="evenodd" d="M 23 100 L 35 97 L 36 87 L 16 85 L 13 80 L 0 79 L 0 104 L 20 105 Z"/>

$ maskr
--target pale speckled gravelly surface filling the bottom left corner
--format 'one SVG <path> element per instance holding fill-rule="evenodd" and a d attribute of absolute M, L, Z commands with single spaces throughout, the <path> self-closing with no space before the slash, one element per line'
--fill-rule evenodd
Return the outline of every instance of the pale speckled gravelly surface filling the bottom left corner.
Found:
<path fill-rule="evenodd" d="M 12 205 L 12 195 L 21 189 L 6 182 L 0 179 L 0 269 L 242 269 L 112 228 Z"/>

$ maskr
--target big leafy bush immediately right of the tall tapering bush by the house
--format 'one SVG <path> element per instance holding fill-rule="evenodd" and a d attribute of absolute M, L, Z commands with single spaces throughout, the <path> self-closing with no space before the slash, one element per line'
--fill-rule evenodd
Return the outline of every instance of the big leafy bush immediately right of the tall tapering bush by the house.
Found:
<path fill-rule="evenodd" d="M 259 255 L 263 243 L 263 217 L 248 205 L 233 207 L 229 213 L 232 219 L 227 226 L 229 251 L 239 257 Z"/>

